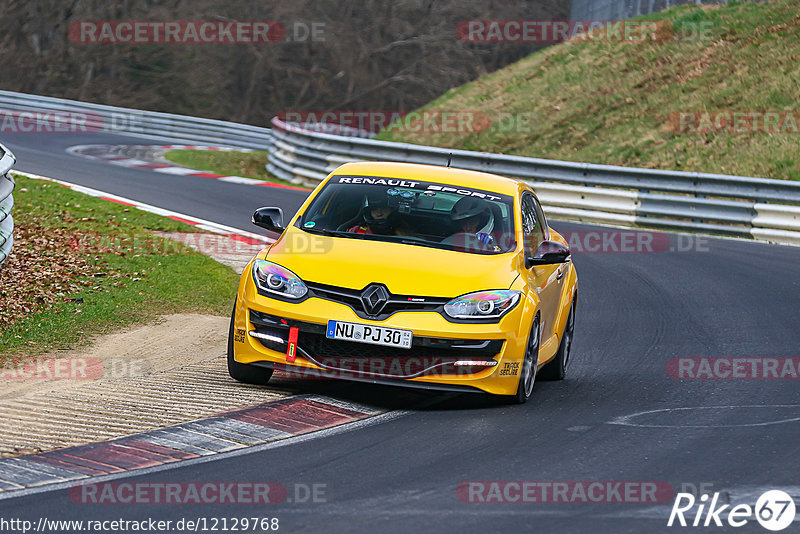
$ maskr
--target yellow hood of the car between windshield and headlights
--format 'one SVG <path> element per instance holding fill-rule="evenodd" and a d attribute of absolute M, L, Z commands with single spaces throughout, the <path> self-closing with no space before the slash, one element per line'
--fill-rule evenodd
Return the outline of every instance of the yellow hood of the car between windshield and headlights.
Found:
<path fill-rule="evenodd" d="M 328 237 L 290 227 L 267 251 L 307 282 L 363 289 L 385 284 L 396 295 L 457 297 L 506 289 L 517 276 L 514 253 L 469 254 L 404 243 Z"/>

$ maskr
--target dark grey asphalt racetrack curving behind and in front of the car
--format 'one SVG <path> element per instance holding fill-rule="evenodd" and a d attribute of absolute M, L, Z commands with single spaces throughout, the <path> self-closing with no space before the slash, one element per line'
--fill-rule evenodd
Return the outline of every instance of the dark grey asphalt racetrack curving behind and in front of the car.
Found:
<path fill-rule="evenodd" d="M 76 144 L 147 142 L 141 139 L 18 134 L 2 142 L 15 152 L 19 170 L 251 231 L 254 208 L 277 204 L 292 212 L 302 200 L 301 192 L 158 175 L 64 152 Z M 280 532 L 766 532 L 755 521 L 738 529 L 668 528 L 672 499 L 462 502 L 456 489 L 467 481 L 658 481 L 675 491 L 706 484 L 723 499 L 751 505 L 763 491 L 784 488 L 800 505 L 800 382 L 677 380 L 667 373 L 668 360 L 677 357 L 800 356 L 800 249 L 708 239 L 685 252 L 576 253 L 574 262 L 581 302 L 568 379 L 537 383 L 526 405 L 308 381 L 306 392 L 408 413 L 125 479 L 275 481 L 290 497 L 295 484 L 324 484 L 324 502 L 96 505 L 76 504 L 66 490 L 55 490 L 2 500 L 0 517 L 259 516 L 277 517 Z M 625 419 L 640 412 L 651 413 Z"/>

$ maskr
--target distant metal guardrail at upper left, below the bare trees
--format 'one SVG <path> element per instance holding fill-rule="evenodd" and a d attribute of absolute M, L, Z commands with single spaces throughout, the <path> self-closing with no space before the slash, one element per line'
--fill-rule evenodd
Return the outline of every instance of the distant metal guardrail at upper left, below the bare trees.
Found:
<path fill-rule="evenodd" d="M 272 142 L 269 128 L 11 91 L 0 91 L 0 111 L 17 115 L 21 119 L 20 129 L 39 122 L 43 128 L 58 125 L 66 129 L 74 127 L 78 132 L 85 128 L 86 131 L 257 150 L 268 150 Z"/>

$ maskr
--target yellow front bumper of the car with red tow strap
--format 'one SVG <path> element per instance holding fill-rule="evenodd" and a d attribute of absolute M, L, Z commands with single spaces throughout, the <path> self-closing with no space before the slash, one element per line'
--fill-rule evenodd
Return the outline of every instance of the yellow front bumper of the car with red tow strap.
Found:
<path fill-rule="evenodd" d="M 521 320 L 524 302 L 499 323 L 451 323 L 429 311 L 370 321 L 349 306 L 326 299 L 294 303 L 260 295 L 243 278 L 234 318 L 234 354 L 240 363 L 284 368 L 299 377 L 502 395 L 516 392 L 527 341 Z M 413 345 L 402 349 L 327 339 L 328 320 L 412 330 Z M 293 362 L 286 357 L 290 327 L 298 328 Z"/>

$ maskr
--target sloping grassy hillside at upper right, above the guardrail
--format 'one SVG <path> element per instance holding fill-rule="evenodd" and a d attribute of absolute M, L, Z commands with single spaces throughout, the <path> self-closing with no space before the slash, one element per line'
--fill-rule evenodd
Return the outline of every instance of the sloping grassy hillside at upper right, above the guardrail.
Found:
<path fill-rule="evenodd" d="M 480 110 L 479 131 L 380 139 L 565 161 L 800 179 L 800 0 L 687 5 L 655 41 L 565 42 L 452 89 L 426 111 Z M 779 112 L 778 132 L 689 133 L 681 112 Z M 762 120 L 764 120 L 762 118 Z M 485 123 L 484 123 L 485 124 Z M 465 129 L 468 130 L 468 129 Z M 676 131 L 677 130 L 677 131 Z M 762 129 L 766 130 L 766 129 Z"/>

